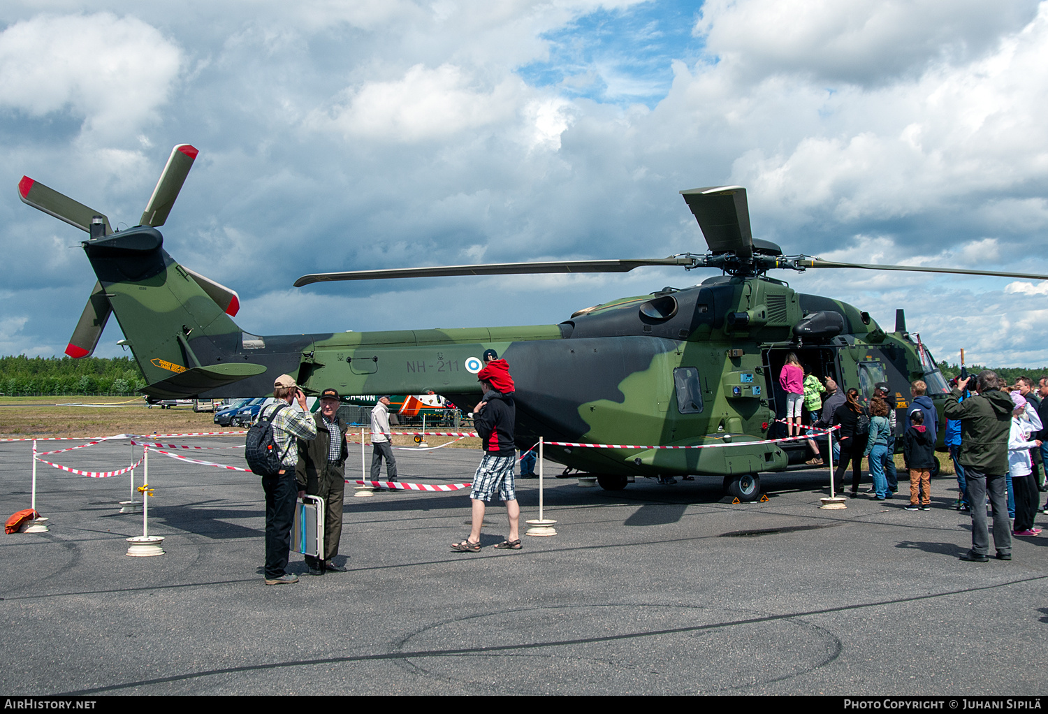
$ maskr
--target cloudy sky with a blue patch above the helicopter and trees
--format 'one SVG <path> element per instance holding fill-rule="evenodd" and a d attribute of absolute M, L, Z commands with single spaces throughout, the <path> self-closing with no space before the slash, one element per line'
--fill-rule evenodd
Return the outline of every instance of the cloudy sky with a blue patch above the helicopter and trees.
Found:
<path fill-rule="evenodd" d="M 706 250 L 678 192 L 828 260 L 1048 273 L 1048 3 L 436 0 L 0 6 L 0 354 L 62 354 L 94 276 L 23 174 L 135 224 L 254 333 L 551 324 L 717 275 L 342 282 L 316 272 Z M 1048 365 L 1048 281 L 776 274 L 938 360 Z M 115 320 L 95 351 L 122 354 Z"/>

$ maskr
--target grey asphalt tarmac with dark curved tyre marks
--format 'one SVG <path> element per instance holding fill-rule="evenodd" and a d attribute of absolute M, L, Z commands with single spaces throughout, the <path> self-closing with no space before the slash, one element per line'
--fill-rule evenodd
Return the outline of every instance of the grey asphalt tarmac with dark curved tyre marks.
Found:
<path fill-rule="evenodd" d="M 190 455 L 243 466 L 240 454 Z M 401 480 L 419 483 L 468 481 L 480 458 L 396 454 Z M 108 471 L 130 462 L 131 447 L 46 458 Z M 354 475 L 359 464 L 357 451 Z M 547 476 L 560 471 L 547 461 Z M 3 513 L 29 506 L 29 445 L 0 445 Z M 1017 538 L 1011 562 L 963 562 L 970 520 L 951 507 L 952 477 L 933 481 L 930 512 L 904 511 L 905 498 L 822 511 L 826 477 L 763 475 L 768 500 L 736 505 L 720 502 L 714 479 L 606 492 L 547 478 L 558 535 L 495 549 L 506 535 L 496 504 L 479 554 L 450 548 L 468 533 L 468 491 L 347 496 L 339 561 L 349 571 L 308 577 L 292 554 L 300 582 L 265 586 L 254 475 L 152 454 L 150 533 L 167 553 L 129 558 L 125 538 L 141 535 L 141 517 L 114 505 L 128 477 L 41 464 L 38 507 L 50 532 L 0 541 L 0 693 L 1048 690 L 1048 537 Z M 538 481 L 519 480 L 518 497 L 522 520 L 537 518 Z"/>

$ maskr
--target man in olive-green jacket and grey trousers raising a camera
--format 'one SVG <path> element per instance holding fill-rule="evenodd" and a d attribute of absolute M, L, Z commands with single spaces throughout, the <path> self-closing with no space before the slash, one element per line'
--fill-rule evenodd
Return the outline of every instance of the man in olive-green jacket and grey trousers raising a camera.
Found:
<path fill-rule="evenodd" d="M 1008 522 L 1008 433 L 1011 430 L 1011 396 L 1002 392 L 996 372 L 976 376 L 975 396 L 960 401 L 969 380 L 958 380 L 946 399 L 946 418 L 961 421 L 959 460 L 964 467 L 965 500 L 971 505 L 971 549 L 963 560 L 989 560 L 986 531 L 986 494 L 994 506 L 994 545 L 999 560 L 1011 560 L 1011 523 Z"/>

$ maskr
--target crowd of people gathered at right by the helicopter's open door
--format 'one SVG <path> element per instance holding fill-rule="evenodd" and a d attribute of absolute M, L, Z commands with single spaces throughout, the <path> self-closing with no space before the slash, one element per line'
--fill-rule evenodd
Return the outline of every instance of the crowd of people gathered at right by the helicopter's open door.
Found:
<path fill-rule="evenodd" d="M 832 377 L 821 383 L 790 353 L 780 373 L 780 385 L 787 392 L 790 436 L 801 434 L 802 421 L 807 423 L 809 436 L 812 429 L 839 427 L 832 439 L 835 491 L 844 492 L 844 476 L 851 466 L 849 496 L 859 497 L 866 458 L 872 482 L 867 493 L 879 501 L 893 498 L 898 491 L 895 442 L 899 435 L 910 477 L 910 501 L 904 507 L 930 511 L 931 477 L 938 466 L 936 441 L 944 426 L 943 440 L 960 492 L 953 505 L 969 513 L 973 522 L 973 545 L 965 560 L 985 562 L 989 558 L 987 502 L 998 559 L 1011 560 L 1012 536 L 1041 533 L 1034 518 L 1040 492 L 1048 490 L 1041 474 L 1042 466 L 1048 464 L 1048 375 L 1042 376 L 1036 387 L 1028 376 L 1007 385 L 989 370 L 975 378 L 955 378 L 943 411 L 945 425 L 939 423 L 927 385 L 917 380 L 910 385 L 911 401 L 901 434 L 896 426 L 895 399 L 886 383 L 875 385 L 867 401 L 854 388 L 839 389 Z M 806 418 L 795 409 L 799 404 L 803 404 Z M 814 453 L 807 463 L 823 464 L 820 446 L 811 438 L 807 443 Z M 1048 503 L 1040 511 L 1048 514 Z"/>

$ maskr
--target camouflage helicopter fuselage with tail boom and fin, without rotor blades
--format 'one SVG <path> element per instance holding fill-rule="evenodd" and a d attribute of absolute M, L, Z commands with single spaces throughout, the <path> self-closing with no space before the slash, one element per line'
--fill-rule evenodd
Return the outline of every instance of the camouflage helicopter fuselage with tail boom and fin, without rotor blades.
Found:
<path fill-rule="evenodd" d="M 785 469 L 784 448 L 752 442 L 773 430 L 781 404 L 776 350 L 798 348 L 794 327 L 812 316 L 843 323 L 839 333 L 813 338 L 809 349 L 823 355 L 813 359 L 832 361 L 829 371 L 844 386 L 858 385 L 860 363 L 875 361 L 902 399 L 902 386 L 922 373 L 904 332 L 886 334 L 851 305 L 766 277 L 720 276 L 624 298 L 559 325 L 259 337 L 241 330 L 163 251 L 155 229 L 91 238 L 84 247 L 151 396 L 265 394 L 286 372 L 309 394 L 329 387 L 343 394 L 432 389 L 468 411 L 481 394 L 480 358 L 490 348 L 508 361 L 516 381 L 523 448 L 539 436 L 730 443 L 546 450 L 547 457 L 593 474 L 733 476 Z"/>

